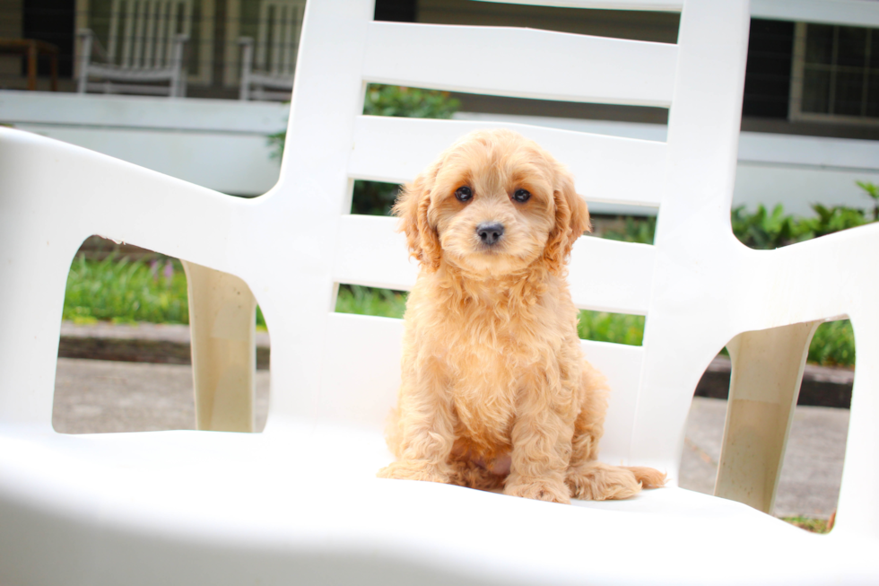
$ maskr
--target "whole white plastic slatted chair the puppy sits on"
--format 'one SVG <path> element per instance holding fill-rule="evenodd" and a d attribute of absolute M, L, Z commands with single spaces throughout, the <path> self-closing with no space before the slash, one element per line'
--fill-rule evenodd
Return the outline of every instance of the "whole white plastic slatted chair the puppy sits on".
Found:
<path fill-rule="evenodd" d="M 879 582 L 879 268 L 860 256 L 879 248 L 879 225 L 776 251 L 733 237 L 747 4 L 687 0 L 677 46 L 372 11 L 309 3 L 281 179 L 265 197 L 0 129 L 0 583 Z M 381 431 L 401 323 L 334 313 L 335 291 L 406 288 L 416 267 L 393 219 L 347 213 L 352 180 L 410 179 L 478 125 L 362 117 L 367 82 L 671 104 L 667 143 L 516 127 L 568 163 L 588 199 L 659 206 L 654 246 L 580 239 L 570 282 L 580 307 L 648 316 L 641 347 L 583 346 L 614 388 L 602 458 L 664 468 L 669 487 L 566 506 L 375 477 L 390 459 Z M 264 433 L 52 430 L 65 276 L 94 233 L 197 274 L 201 429 L 252 421 L 248 285 L 272 335 Z M 843 315 L 866 360 L 837 526 L 819 536 L 758 509 L 778 484 L 808 338 Z M 718 493 L 756 508 L 674 486 L 693 389 L 727 343 Z"/>

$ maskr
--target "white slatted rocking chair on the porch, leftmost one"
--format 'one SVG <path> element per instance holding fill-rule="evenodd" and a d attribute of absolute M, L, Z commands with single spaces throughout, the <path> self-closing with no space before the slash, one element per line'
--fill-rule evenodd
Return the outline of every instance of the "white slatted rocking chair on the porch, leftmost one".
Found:
<path fill-rule="evenodd" d="M 106 49 L 91 29 L 77 33 L 77 92 L 186 96 L 191 28 L 192 0 L 113 0 Z"/>

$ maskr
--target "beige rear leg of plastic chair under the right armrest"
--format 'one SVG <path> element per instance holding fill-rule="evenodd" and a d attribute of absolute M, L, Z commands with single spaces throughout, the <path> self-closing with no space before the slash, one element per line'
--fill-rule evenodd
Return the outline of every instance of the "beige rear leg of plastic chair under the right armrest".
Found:
<path fill-rule="evenodd" d="M 805 358 L 821 321 L 739 334 L 714 494 L 771 512 Z"/>

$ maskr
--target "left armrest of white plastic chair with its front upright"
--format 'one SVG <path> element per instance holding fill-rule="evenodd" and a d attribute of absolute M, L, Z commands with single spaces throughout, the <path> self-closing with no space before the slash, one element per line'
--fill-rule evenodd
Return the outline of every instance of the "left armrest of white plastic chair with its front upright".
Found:
<path fill-rule="evenodd" d="M 0 421 L 51 424 L 65 282 L 100 234 L 231 274 L 253 204 L 0 128 Z"/>

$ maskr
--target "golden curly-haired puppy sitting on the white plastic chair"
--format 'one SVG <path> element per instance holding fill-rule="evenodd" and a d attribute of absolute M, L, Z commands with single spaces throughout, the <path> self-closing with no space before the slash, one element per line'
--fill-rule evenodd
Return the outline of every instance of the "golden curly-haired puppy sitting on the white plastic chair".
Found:
<path fill-rule="evenodd" d="M 591 230 L 570 173 L 509 130 L 474 132 L 406 185 L 394 212 L 421 262 L 403 384 L 379 477 L 570 503 L 660 486 L 598 462 L 605 378 L 587 363 L 565 261 Z"/>

